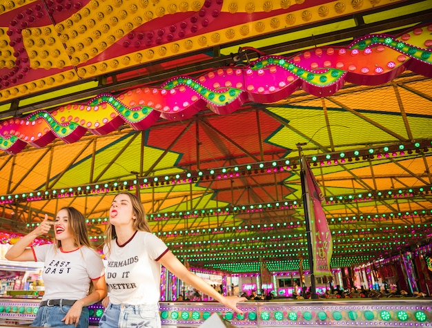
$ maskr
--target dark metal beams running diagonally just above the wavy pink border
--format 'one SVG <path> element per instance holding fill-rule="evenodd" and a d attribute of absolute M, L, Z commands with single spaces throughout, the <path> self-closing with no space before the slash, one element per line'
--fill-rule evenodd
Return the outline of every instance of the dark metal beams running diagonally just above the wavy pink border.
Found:
<path fill-rule="evenodd" d="M 423 0 L 411 0 L 410 4 L 420 3 L 422 1 Z M 380 32 L 382 30 L 393 30 L 393 32 L 397 32 L 397 31 L 400 32 L 401 30 L 406 29 L 406 26 L 413 25 L 415 23 L 430 21 L 431 12 L 429 12 L 429 10 L 424 10 L 423 12 L 415 12 L 414 14 L 404 15 L 402 17 L 393 17 L 385 21 L 377 21 L 371 24 L 364 23 L 364 19 L 363 19 L 364 15 L 372 15 L 372 14 L 376 14 L 377 12 L 385 12 L 387 10 L 391 10 L 392 8 L 399 8 L 400 6 L 403 5 L 404 3 L 395 3 L 391 6 L 385 6 L 384 8 L 375 8 L 375 10 L 369 10 L 364 13 L 357 13 L 356 15 L 353 15 L 351 17 L 347 17 L 347 19 L 354 19 L 357 22 L 357 26 L 355 26 L 355 28 L 346 28 L 345 30 L 338 30 L 324 35 L 317 35 L 317 36 L 311 35 L 310 37 L 307 37 L 302 40 L 286 41 L 283 44 L 276 44 L 276 45 L 260 48 L 259 52 L 265 53 L 266 55 L 274 55 L 280 53 L 289 55 L 290 53 L 300 48 L 313 48 L 320 44 L 328 44 L 328 43 L 333 43 L 335 45 L 337 44 L 337 42 L 346 44 L 346 39 L 353 39 L 354 37 L 360 37 L 370 33 Z M 333 21 L 336 22 L 339 20 L 340 19 L 329 19 L 326 21 L 326 24 L 333 23 Z M 311 23 L 311 24 L 307 24 L 306 26 L 299 26 L 288 30 L 269 33 L 268 35 L 266 35 L 266 37 L 284 35 L 286 33 L 295 32 L 298 30 L 302 30 L 304 28 L 313 28 L 317 26 L 322 26 L 322 22 Z M 262 38 L 262 36 L 243 39 L 241 41 L 235 41 L 230 44 L 226 44 L 222 47 L 217 47 L 213 49 L 206 48 L 203 50 L 190 52 L 188 55 L 193 56 L 197 54 L 207 54 L 209 50 L 213 50 L 213 58 L 208 59 L 206 61 L 199 61 L 193 64 L 188 64 L 185 66 L 164 70 L 163 72 L 150 73 L 147 74 L 145 77 L 135 76 L 129 79 L 125 79 L 123 81 L 119 79 L 119 76 L 124 73 L 139 71 L 149 66 L 157 66 L 167 61 L 175 61 L 177 59 L 181 59 L 184 55 L 179 55 L 177 57 L 169 57 L 166 59 L 160 59 L 157 61 L 152 61 L 150 63 L 133 66 L 132 68 L 128 68 L 126 70 L 118 70 L 115 73 L 102 75 L 100 77 L 97 77 L 97 81 L 99 81 L 99 86 L 95 88 L 90 88 L 88 90 L 81 90 L 77 93 L 63 95 L 61 97 L 44 100 L 42 102 L 35 102 L 33 104 L 29 104 L 26 106 L 19 105 L 19 102 L 22 99 L 35 97 L 37 95 L 44 95 L 46 94 L 46 91 L 42 91 L 40 93 L 32 93 L 31 95 L 28 95 L 26 97 L 19 97 L 13 99 L 12 102 L 8 102 L 8 101 L 0 102 L 0 105 L 6 103 L 11 104 L 9 110 L 4 110 L 2 113 L 0 113 L 0 120 L 5 119 L 6 117 L 10 117 L 10 115 L 13 115 L 14 117 L 26 116 L 28 115 L 28 113 L 31 113 L 35 110 L 40 110 L 43 108 L 52 108 L 55 106 L 59 106 L 59 104 L 64 104 L 65 102 L 70 102 L 70 103 L 77 102 L 77 101 L 82 102 L 82 99 L 90 99 L 95 95 L 99 95 L 102 93 L 112 93 L 113 95 L 117 95 L 123 92 L 124 90 L 128 90 L 129 88 L 135 88 L 137 86 L 155 86 L 160 84 L 163 81 L 166 81 L 170 77 L 174 77 L 176 75 L 196 76 L 205 72 L 208 69 L 212 69 L 215 67 L 233 66 L 235 64 L 235 61 L 233 61 L 233 55 L 220 55 L 221 48 L 229 48 L 236 45 L 247 44 L 248 42 L 250 43 L 260 38 Z M 255 59 L 259 57 L 259 54 L 253 50 L 245 50 L 244 52 L 246 53 L 248 59 Z M 112 79 L 112 83 L 108 83 L 108 79 Z M 94 79 L 82 79 L 81 81 L 68 84 L 67 86 L 52 88 L 51 90 L 52 91 L 61 90 L 68 86 L 84 84 L 87 81 L 94 81 Z"/>

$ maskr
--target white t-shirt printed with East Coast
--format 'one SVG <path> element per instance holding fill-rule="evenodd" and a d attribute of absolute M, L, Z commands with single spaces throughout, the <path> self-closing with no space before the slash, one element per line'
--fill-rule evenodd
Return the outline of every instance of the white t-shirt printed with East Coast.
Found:
<path fill-rule="evenodd" d="M 42 279 L 45 293 L 42 300 L 81 300 L 88 296 L 90 280 L 104 276 L 101 256 L 89 247 L 63 252 L 55 244 L 44 244 L 33 249 L 35 260 L 44 262 Z"/>

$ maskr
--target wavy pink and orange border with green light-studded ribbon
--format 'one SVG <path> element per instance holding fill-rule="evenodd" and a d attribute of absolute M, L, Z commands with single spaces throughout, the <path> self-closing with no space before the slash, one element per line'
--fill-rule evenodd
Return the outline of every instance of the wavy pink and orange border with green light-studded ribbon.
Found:
<path fill-rule="evenodd" d="M 347 47 L 315 48 L 290 58 L 263 56 L 197 79 L 177 76 L 159 88 L 143 86 L 118 97 L 101 94 L 87 104 L 39 110 L 25 119 L 1 122 L 0 148 L 17 154 L 27 144 L 43 147 L 55 138 L 73 143 L 86 132 L 106 135 L 125 123 L 140 131 L 158 119 L 188 119 L 204 108 L 226 115 L 247 102 L 277 102 L 298 88 L 326 97 L 337 93 L 345 81 L 379 85 L 404 70 L 432 77 L 431 31 L 432 24 L 400 37 L 366 35 Z"/>

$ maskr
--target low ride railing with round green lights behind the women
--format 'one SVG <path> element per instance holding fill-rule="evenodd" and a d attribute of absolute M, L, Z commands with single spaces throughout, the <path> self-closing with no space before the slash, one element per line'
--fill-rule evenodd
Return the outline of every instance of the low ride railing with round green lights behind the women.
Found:
<path fill-rule="evenodd" d="M 30 325 L 38 300 L 0 299 L 0 325 Z M 104 313 L 90 309 L 90 325 Z M 341 298 L 239 303 L 240 315 L 218 302 L 160 302 L 162 327 L 199 327 L 213 313 L 234 327 L 432 327 L 432 298 Z"/>

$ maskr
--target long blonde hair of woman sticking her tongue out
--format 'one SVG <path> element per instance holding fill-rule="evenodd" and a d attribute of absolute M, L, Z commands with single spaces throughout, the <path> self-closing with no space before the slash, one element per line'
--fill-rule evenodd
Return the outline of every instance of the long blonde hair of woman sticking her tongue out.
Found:
<path fill-rule="evenodd" d="M 146 218 L 146 210 L 144 210 L 144 206 L 142 206 L 141 200 L 139 200 L 139 198 L 133 193 L 127 193 L 126 191 L 117 193 L 115 197 L 117 197 L 118 195 L 127 195 L 129 197 L 130 204 L 132 204 L 133 215 L 135 215 L 136 217 L 136 219 L 133 220 L 133 229 L 135 229 L 135 231 L 147 231 L 151 233 L 152 229 L 148 225 Z M 111 241 L 115 238 L 117 238 L 115 226 L 113 226 L 111 223 L 108 223 L 108 226 L 105 230 L 105 244 L 108 247 L 108 253 L 110 252 Z"/>

